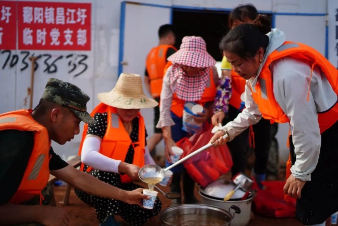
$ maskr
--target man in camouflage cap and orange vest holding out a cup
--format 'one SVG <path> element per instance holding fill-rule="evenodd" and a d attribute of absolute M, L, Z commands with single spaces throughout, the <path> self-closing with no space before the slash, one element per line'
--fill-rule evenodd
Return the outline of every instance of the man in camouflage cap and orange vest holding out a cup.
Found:
<path fill-rule="evenodd" d="M 54 153 L 51 140 L 64 145 L 79 134 L 81 120 L 96 123 L 87 112 L 88 101 L 77 86 L 50 78 L 34 110 L 0 115 L 1 225 L 69 224 L 65 209 L 48 206 L 53 198 L 49 173 L 96 196 L 139 205 L 150 199 L 142 189 L 129 192 L 105 184 Z"/>

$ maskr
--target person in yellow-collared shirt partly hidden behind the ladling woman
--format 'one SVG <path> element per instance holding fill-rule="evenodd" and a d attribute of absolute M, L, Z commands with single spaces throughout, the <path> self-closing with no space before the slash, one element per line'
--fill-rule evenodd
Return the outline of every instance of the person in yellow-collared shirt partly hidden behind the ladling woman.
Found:
<path fill-rule="evenodd" d="M 257 9 L 253 5 L 240 5 L 230 13 L 229 27 L 234 28 L 243 23 L 253 24 L 253 21 L 257 16 Z M 232 96 L 228 112 L 222 111 L 222 108 L 218 106 L 217 103 L 223 101 L 222 97 L 218 97 L 219 101 L 215 106 L 215 114 L 212 116 L 213 125 L 218 125 L 218 123 L 222 123 L 224 125 L 229 121 L 233 121 L 239 112 L 241 112 L 245 107 L 244 102 L 241 100 L 241 95 L 244 93 L 245 89 L 245 79 L 232 70 L 231 64 L 227 61 L 225 56 L 223 56 L 222 59 L 221 70 L 222 77 L 231 78 Z M 227 118 L 224 119 L 226 115 Z M 270 150 L 270 131 L 270 120 L 262 118 L 257 124 L 253 125 L 254 140 L 253 144 L 251 144 L 254 146 L 253 148 L 255 151 L 253 175 L 260 188 L 262 188 L 261 182 L 265 180 L 266 166 Z M 231 169 L 233 176 L 238 172 L 244 173 L 245 171 L 247 163 L 248 136 L 249 129 L 246 129 L 227 144 L 234 162 Z"/>

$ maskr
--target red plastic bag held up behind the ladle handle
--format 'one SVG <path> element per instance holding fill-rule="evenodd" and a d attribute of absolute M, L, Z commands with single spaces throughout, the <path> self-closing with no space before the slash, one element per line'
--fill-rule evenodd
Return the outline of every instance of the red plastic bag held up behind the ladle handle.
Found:
<path fill-rule="evenodd" d="M 207 145 L 213 136 L 211 130 L 212 126 L 206 124 L 202 131 L 177 142 L 177 146 L 184 150 L 181 158 Z M 227 173 L 233 166 L 233 160 L 228 146 L 224 145 L 217 148 L 210 147 L 184 161 L 183 164 L 193 180 L 202 187 L 206 187 L 219 176 Z"/>

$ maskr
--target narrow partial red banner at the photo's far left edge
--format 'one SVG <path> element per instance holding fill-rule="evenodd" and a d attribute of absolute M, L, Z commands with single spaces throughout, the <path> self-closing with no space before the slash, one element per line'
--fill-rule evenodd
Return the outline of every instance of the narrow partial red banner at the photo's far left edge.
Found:
<path fill-rule="evenodd" d="M 16 49 L 16 2 L 0 2 L 0 50 Z"/>

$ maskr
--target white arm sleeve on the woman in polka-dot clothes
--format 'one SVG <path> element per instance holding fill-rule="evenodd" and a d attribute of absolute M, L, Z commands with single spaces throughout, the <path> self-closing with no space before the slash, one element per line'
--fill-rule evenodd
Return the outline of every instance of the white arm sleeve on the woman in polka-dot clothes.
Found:
<path fill-rule="evenodd" d="M 100 139 L 96 137 L 86 138 L 82 146 L 81 161 L 84 164 L 101 171 L 119 173 L 121 160 L 111 159 L 99 153 L 100 146 Z"/>

